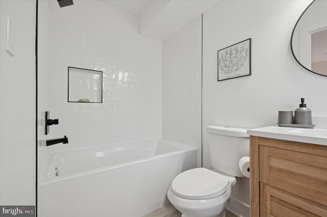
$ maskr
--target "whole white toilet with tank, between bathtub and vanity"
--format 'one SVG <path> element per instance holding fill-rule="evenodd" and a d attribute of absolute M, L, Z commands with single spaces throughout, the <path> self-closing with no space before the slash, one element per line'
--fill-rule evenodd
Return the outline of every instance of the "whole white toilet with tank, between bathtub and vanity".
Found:
<path fill-rule="evenodd" d="M 236 177 L 244 177 L 239 160 L 249 156 L 246 129 L 207 126 L 213 170 L 195 168 L 177 175 L 168 189 L 168 199 L 182 217 L 225 217 Z"/>

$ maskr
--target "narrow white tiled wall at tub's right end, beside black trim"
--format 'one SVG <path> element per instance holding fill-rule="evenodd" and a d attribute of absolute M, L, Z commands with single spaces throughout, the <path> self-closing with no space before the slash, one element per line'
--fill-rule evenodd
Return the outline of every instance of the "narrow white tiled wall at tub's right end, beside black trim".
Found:
<path fill-rule="evenodd" d="M 201 16 L 162 44 L 162 138 L 197 148 L 201 167 Z"/>

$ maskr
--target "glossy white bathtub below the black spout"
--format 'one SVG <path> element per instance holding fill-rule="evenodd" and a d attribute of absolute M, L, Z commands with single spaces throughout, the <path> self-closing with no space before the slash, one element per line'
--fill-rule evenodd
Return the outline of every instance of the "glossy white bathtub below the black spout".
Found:
<path fill-rule="evenodd" d="M 167 203 L 174 177 L 195 167 L 196 148 L 167 140 L 57 153 L 40 174 L 38 216 L 142 216 Z"/>

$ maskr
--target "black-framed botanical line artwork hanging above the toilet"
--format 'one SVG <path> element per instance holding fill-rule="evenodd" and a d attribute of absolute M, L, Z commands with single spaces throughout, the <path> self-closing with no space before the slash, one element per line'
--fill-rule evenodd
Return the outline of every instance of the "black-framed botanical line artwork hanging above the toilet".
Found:
<path fill-rule="evenodd" d="M 251 75 L 251 39 L 218 50 L 218 82 Z"/>

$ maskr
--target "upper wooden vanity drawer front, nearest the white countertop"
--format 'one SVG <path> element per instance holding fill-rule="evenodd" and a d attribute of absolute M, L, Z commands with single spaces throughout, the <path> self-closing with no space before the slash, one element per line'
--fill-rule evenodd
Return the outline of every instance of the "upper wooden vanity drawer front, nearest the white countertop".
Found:
<path fill-rule="evenodd" d="M 327 157 L 260 145 L 259 178 L 327 206 Z"/>

